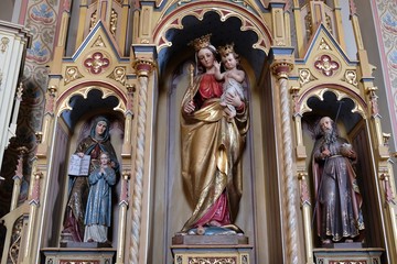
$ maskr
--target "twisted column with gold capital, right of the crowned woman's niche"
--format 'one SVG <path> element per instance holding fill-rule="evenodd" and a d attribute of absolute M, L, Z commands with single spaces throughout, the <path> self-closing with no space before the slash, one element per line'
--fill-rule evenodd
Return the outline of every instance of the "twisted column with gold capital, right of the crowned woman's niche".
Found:
<path fill-rule="evenodd" d="M 275 62 L 271 70 L 278 79 L 281 100 L 281 130 L 282 130 L 282 157 L 283 157 L 283 210 L 287 221 L 287 263 L 298 264 L 298 224 L 297 224 L 297 187 L 292 170 L 292 132 L 291 113 L 288 97 L 288 73 L 293 65 L 287 62 Z"/>

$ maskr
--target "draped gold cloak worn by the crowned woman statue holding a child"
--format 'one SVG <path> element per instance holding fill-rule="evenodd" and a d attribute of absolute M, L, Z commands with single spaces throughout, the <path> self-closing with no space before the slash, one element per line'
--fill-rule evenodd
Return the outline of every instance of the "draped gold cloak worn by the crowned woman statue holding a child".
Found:
<path fill-rule="evenodd" d="M 182 177 L 194 208 L 182 231 L 194 228 L 223 191 L 233 222 L 243 191 L 242 155 L 249 123 L 248 103 L 232 120 L 219 98 L 206 100 L 200 110 L 185 113 L 183 106 L 194 98 L 200 81 L 201 76 L 185 92 L 181 108 Z"/>

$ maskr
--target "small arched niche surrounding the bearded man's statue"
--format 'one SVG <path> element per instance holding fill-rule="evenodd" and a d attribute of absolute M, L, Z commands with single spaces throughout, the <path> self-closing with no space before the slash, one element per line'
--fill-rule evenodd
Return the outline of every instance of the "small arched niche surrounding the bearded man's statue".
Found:
<path fill-rule="evenodd" d="M 318 123 L 322 117 L 330 117 L 336 122 L 339 134 L 347 139 L 357 154 L 355 164 L 357 184 L 363 197 L 363 217 L 365 231 L 363 239 L 364 248 L 384 248 L 385 241 L 382 224 L 382 205 L 377 191 L 376 163 L 372 152 L 372 135 L 366 117 L 366 105 L 360 97 L 350 90 L 339 87 L 318 87 L 308 92 L 301 100 L 302 110 L 302 136 L 308 151 L 307 168 L 309 173 L 309 186 L 312 209 L 315 207 L 314 185 L 312 174 L 312 150 L 315 136 L 319 134 Z M 315 221 L 314 221 L 315 222 Z M 313 227 L 314 248 L 321 248 L 321 241 Z"/>

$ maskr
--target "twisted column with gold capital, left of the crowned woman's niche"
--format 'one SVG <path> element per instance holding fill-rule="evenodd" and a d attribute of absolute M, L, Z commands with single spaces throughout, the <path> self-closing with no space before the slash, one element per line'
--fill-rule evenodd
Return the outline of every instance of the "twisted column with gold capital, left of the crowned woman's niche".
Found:
<path fill-rule="evenodd" d="M 137 70 L 139 79 L 139 103 L 138 103 L 138 133 L 137 133 L 137 157 L 135 163 L 135 182 L 132 195 L 132 228 L 129 260 L 131 264 L 139 263 L 139 239 L 142 217 L 143 198 L 143 172 L 144 172 L 144 128 L 147 124 L 147 101 L 149 74 L 154 67 L 150 59 L 136 59 L 132 67 Z"/>

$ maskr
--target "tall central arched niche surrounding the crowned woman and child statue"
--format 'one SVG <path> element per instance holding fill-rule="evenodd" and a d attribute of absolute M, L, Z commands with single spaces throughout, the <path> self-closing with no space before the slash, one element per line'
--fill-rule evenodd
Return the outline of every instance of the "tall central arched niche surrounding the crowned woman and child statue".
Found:
<path fill-rule="evenodd" d="M 275 128 L 272 111 L 266 111 L 268 108 L 271 109 L 273 100 L 270 80 L 269 76 L 262 77 L 269 73 L 266 70 L 268 54 L 266 51 L 255 47 L 258 40 L 266 38 L 267 43 L 270 43 L 271 40 L 264 32 L 258 35 L 256 31 L 245 29 L 244 22 L 235 15 L 236 11 L 233 11 L 233 14 L 227 18 L 222 15 L 223 11 L 225 10 L 222 8 L 221 10 L 198 8 L 198 16 L 189 12 L 187 14 L 186 12 L 180 13 L 178 19 L 180 26 L 167 28 L 164 25 L 159 30 L 172 45 L 162 47 L 159 53 L 161 74 L 155 120 L 158 128 L 155 132 L 155 177 L 153 178 L 153 199 L 150 205 L 152 208 L 150 218 L 153 220 L 148 254 L 151 263 L 160 263 L 164 260 L 172 262 L 171 239 L 182 229 L 192 213 L 182 186 L 180 110 L 182 97 L 190 82 L 189 68 L 196 64 L 194 48 L 187 44 L 208 33 L 212 34 L 211 42 L 215 47 L 230 42 L 235 43 L 235 51 L 242 58 L 240 66 L 246 72 L 245 88 L 249 100 L 251 121 L 243 156 L 244 190 L 236 223 L 256 245 L 253 263 L 258 262 L 255 260 L 264 260 L 262 262 L 266 263 L 271 258 L 282 257 L 280 215 L 272 213 L 276 210 L 279 211 L 280 208 L 278 179 L 275 176 L 277 175 L 276 163 L 273 163 L 273 170 L 268 173 L 265 172 L 266 165 L 264 165 L 268 161 L 262 161 L 268 156 L 276 156 L 273 153 L 264 153 L 267 151 L 264 151 L 262 146 L 272 144 L 273 146 L 270 148 L 276 151 L 276 140 L 268 139 L 269 142 L 264 143 L 261 134 L 262 123 Z M 178 14 L 173 15 L 178 16 Z M 157 33 L 154 32 L 154 34 Z M 267 91 L 264 92 L 264 90 Z M 266 107 L 264 107 L 265 105 Z M 255 133 L 257 140 L 254 142 Z M 275 134 L 271 136 L 276 138 Z M 269 187 L 268 182 L 272 182 L 276 187 Z"/>

